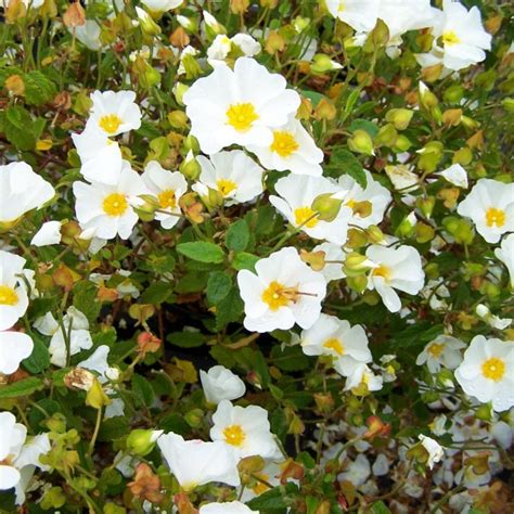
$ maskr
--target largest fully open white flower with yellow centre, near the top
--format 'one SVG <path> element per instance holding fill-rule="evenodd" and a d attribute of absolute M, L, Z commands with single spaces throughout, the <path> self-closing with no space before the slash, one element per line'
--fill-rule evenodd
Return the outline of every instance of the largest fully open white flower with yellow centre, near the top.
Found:
<path fill-rule="evenodd" d="M 271 144 L 272 128 L 287 123 L 300 98 L 286 89 L 281 75 L 270 74 L 253 59 L 240 57 L 233 70 L 217 66 L 208 77 L 196 80 L 183 102 L 191 134 L 203 152 L 213 154 L 230 144 Z"/>

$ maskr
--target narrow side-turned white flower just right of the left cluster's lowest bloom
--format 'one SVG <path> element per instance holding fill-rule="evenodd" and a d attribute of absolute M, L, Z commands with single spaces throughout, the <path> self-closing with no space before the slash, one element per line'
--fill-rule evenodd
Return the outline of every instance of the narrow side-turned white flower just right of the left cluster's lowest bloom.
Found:
<path fill-rule="evenodd" d="M 155 219 L 160 221 L 163 229 L 171 229 L 180 219 L 179 200 L 188 191 L 183 175 L 179 171 L 168 171 L 156 160 L 151 160 L 144 167 L 141 179 L 150 194 L 158 201 L 160 211 L 155 213 Z"/>

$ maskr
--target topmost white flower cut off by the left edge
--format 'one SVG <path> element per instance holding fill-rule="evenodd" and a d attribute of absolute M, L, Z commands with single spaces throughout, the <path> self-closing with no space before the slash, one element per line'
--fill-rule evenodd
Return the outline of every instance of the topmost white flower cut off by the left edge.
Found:
<path fill-rule="evenodd" d="M 0 223 L 11 223 L 53 198 L 50 182 L 23 162 L 0 166 Z"/>

